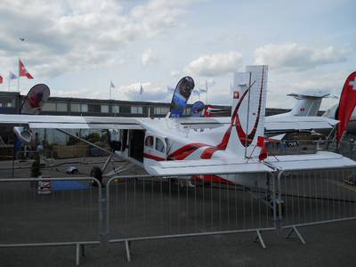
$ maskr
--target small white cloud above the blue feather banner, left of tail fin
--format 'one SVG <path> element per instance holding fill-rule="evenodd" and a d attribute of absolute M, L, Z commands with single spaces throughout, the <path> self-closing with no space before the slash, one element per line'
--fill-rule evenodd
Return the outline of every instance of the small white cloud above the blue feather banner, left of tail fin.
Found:
<path fill-rule="evenodd" d="M 191 61 L 186 70 L 193 75 L 216 77 L 236 71 L 241 65 L 242 54 L 239 52 L 214 53 Z"/>

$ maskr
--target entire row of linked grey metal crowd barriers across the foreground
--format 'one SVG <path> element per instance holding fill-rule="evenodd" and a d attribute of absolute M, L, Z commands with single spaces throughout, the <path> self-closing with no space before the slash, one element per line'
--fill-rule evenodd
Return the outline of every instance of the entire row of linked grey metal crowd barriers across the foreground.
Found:
<path fill-rule="evenodd" d="M 119 176 L 102 195 L 100 185 L 49 195 L 29 186 L 94 178 L 0 179 L 0 248 L 75 246 L 79 264 L 85 245 L 122 242 L 130 261 L 139 240 L 255 232 L 266 247 L 263 231 L 290 229 L 305 243 L 300 227 L 356 219 L 355 169 L 244 175 L 245 186 L 239 174 Z"/>

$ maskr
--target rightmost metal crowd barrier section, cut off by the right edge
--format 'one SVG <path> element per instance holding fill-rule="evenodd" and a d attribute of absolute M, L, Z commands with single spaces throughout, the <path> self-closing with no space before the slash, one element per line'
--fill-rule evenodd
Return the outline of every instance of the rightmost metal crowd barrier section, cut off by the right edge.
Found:
<path fill-rule="evenodd" d="M 356 219 L 356 170 L 350 168 L 280 172 L 279 227 L 290 228 Z"/>

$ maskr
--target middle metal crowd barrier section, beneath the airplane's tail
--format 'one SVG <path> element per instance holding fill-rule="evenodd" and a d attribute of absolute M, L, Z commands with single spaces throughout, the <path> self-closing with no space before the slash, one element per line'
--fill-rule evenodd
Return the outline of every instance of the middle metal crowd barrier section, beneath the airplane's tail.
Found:
<path fill-rule="evenodd" d="M 194 184 L 181 180 L 187 176 L 111 178 L 106 188 L 108 241 L 125 242 L 128 261 L 129 244 L 137 240 L 255 231 L 264 248 L 261 232 L 275 229 L 276 196 L 274 176 L 259 175 L 264 189 L 223 183 L 217 180 L 220 175 L 208 174 L 195 176 Z M 239 174 L 223 177 L 234 181 Z"/>

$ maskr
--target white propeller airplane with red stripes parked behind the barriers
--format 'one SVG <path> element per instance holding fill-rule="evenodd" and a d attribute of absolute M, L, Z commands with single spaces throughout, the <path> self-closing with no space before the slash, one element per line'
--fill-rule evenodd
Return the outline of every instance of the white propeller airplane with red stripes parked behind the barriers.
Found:
<path fill-rule="evenodd" d="M 250 68 L 252 82 L 232 94 L 232 114 L 227 123 L 219 117 L 177 116 L 177 110 L 182 111 L 194 87 L 190 77 L 183 77 L 178 83 L 170 117 L 0 115 L 0 123 L 28 125 L 34 129 L 111 129 L 112 140 L 117 137 L 118 144 L 112 155 L 143 166 L 149 174 L 184 175 L 179 177 L 183 180 L 190 180 L 194 175 L 209 182 L 267 189 L 271 186 L 267 174 L 276 170 L 356 166 L 349 158 L 325 151 L 312 155 L 267 156 L 263 141 L 267 69 L 267 66 Z M 298 122 L 286 121 L 282 125 L 287 123 L 298 126 Z M 30 140 L 31 134 L 26 129 L 17 128 L 16 134 L 22 140 L 25 137 Z"/>

